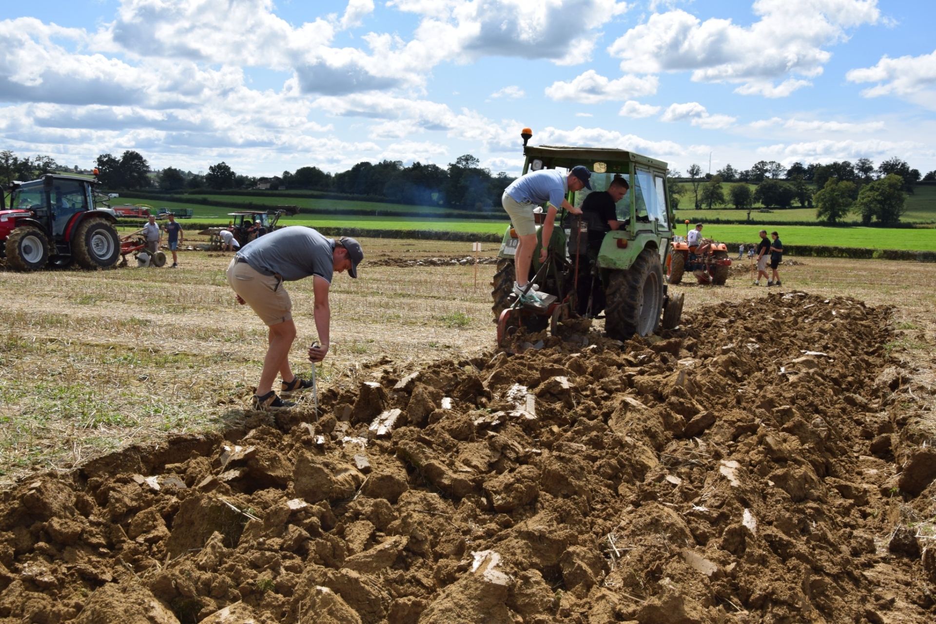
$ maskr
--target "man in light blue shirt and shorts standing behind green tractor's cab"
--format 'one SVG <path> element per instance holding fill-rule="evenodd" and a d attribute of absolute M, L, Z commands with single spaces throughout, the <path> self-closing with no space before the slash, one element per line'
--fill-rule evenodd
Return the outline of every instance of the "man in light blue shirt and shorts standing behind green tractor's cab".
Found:
<path fill-rule="evenodd" d="M 581 210 L 566 201 L 566 192 L 580 191 L 583 188 L 591 191 L 592 185 L 589 183 L 591 177 L 592 172 L 581 165 L 572 167 L 568 175 L 564 175 L 557 169 L 542 169 L 520 176 L 505 189 L 501 202 L 504 210 L 510 215 L 510 222 L 517 230 L 518 237 L 517 254 L 514 256 L 514 272 L 517 276 L 514 293 L 524 303 L 539 304 L 541 301 L 533 288 L 529 293 L 524 293 L 530 281 L 530 265 L 533 262 L 533 253 L 536 248 L 534 208 L 546 202 L 549 204 L 546 221 L 543 223 L 543 249 L 539 254 L 539 261 L 546 262 L 556 212 L 564 208 L 573 214 L 581 214 Z"/>

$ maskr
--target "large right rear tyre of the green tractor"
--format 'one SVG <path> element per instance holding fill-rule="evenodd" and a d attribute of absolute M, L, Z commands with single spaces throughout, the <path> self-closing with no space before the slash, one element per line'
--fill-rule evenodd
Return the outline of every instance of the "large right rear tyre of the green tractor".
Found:
<path fill-rule="evenodd" d="M 605 331 L 626 341 L 647 336 L 660 325 L 663 308 L 663 266 L 655 249 L 644 249 L 627 270 L 613 270 L 607 284 Z"/>

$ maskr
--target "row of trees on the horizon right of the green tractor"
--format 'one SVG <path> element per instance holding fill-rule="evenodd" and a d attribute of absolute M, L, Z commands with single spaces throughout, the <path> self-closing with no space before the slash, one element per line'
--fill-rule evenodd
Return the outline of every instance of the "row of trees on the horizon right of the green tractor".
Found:
<path fill-rule="evenodd" d="M 762 160 L 741 171 L 729 164 L 714 175 L 703 175 L 702 167 L 694 164 L 686 173 L 687 183 L 673 194 L 692 194 L 696 209 L 733 205 L 747 210 L 750 219 L 754 204 L 784 209 L 796 202 L 801 208 L 815 208 L 817 219 L 829 224 L 854 211 L 864 225 L 885 226 L 899 223 L 916 182 L 936 181 L 936 170 L 921 176 L 919 169 L 896 156 L 877 167 L 870 158 L 808 166 L 797 162 L 791 167 Z M 727 188 L 726 183 L 730 183 Z M 756 184 L 753 190 L 751 183 Z"/>

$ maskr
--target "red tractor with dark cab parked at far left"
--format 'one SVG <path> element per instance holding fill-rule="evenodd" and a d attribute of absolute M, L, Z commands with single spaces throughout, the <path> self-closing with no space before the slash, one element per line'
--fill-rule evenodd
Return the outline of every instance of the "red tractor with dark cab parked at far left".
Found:
<path fill-rule="evenodd" d="M 46 174 L 14 181 L 9 210 L 0 210 L 0 257 L 17 270 L 47 265 L 110 268 L 120 260 L 120 239 L 110 212 L 96 210 L 99 182 Z M 0 206 L 0 208 L 3 208 Z"/>

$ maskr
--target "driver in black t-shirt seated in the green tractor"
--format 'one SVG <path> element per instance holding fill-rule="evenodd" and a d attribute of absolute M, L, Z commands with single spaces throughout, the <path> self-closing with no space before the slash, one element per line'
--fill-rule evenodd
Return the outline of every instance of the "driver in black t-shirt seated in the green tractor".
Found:
<path fill-rule="evenodd" d="M 630 184 L 621 176 L 614 176 L 607 187 L 607 191 L 594 191 L 585 197 L 582 202 L 582 218 L 589 225 L 588 229 L 588 255 L 581 255 L 578 259 L 578 313 L 588 312 L 589 298 L 592 298 L 592 311 L 594 314 L 604 309 L 605 294 L 601 288 L 600 279 L 592 279 L 592 263 L 598 258 L 598 250 L 605 239 L 608 230 L 621 228 L 618 221 L 616 204 L 621 201 Z M 589 215 L 592 215 L 590 218 Z M 575 236 L 573 232 L 572 236 Z M 571 243 L 571 241 L 570 241 Z M 570 244 L 571 246 L 571 244 Z M 584 245 L 582 245 L 584 247 Z M 595 284 L 592 292 L 592 283 Z"/>

